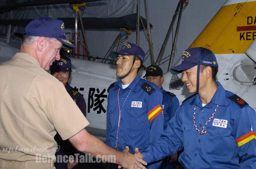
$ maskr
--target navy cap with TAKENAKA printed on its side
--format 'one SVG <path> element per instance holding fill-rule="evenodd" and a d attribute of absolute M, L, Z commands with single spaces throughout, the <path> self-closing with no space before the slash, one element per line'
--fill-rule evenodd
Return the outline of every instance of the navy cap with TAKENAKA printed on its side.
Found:
<path fill-rule="evenodd" d="M 215 55 L 211 50 L 197 47 L 184 50 L 182 53 L 182 62 L 180 65 L 170 69 L 173 75 L 177 75 L 184 70 L 190 69 L 196 65 L 206 65 L 218 67 Z"/>

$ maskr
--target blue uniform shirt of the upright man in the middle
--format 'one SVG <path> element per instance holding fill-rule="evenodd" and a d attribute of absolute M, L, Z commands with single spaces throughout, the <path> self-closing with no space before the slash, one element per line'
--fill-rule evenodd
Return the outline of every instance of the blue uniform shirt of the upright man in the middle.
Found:
<path fill-rule="evenodd" d="M 134 154 L 136 147 L 143 151 L 150 143 L 159 140 L 164 129 L 164 120 L 161 107 L 163 94 L 157 85 L 136 76 L 127 88 L 122 89 L 120 80 L 110 85 L 108 92 L 107 145 L 113 148 L 117 145 L 119 151 L 129 146 L 129 152 Z M 158 166 L 160 163 L 151 166 L 153 165 Z M 117 167 L 112 166 L 111 168 Z"/>

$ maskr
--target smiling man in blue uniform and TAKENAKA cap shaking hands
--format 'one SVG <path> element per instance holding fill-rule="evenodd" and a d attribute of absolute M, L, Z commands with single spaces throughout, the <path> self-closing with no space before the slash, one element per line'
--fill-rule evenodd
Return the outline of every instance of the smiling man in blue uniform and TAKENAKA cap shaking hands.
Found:
<path fill-rule="evenodd" d="M 143 159 L 150 163 L 184 146 L 179 161 L 188 169 L 255 169 L 255 111 L 216 81 L 211 50 L 190 48 L 182 57 L 171 72 L 182 72 L 188 92 L 196 94 L 183 101 L 160 140 L 141 151 Z"/>

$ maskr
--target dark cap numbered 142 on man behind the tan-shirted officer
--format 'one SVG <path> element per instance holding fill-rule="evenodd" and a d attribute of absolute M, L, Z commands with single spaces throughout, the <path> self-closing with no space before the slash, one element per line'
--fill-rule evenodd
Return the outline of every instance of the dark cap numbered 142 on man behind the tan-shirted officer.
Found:
<path fill-rule="evenodd" d="M 71 60 L 69 57 L 61 56 L 60 60 L 55 60 L 50 67 L 50 71 L 68 72 L 71 70 Z"/>

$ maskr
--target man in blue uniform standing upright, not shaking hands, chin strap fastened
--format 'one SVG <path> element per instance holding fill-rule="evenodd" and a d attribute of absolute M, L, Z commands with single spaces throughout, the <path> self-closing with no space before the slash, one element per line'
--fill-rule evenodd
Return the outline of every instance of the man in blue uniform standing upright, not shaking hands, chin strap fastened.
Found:
<path fill-rule="evenodd" d="M 163 132 L 163 95 L 157 85 L 137 76 L 145 58 L 138 45 L 126 42 L 110 57 L 117 58 L 116 76 L 121 80 L 108 88 L 106 144 L 119 151 L 128 146 L 134 154 L 136 147 L 146 149 Z M 158 169 L 159 165 L 155 162 L 147 168 Z M 110 168 L 117 165 L 110 164 Z"/>

